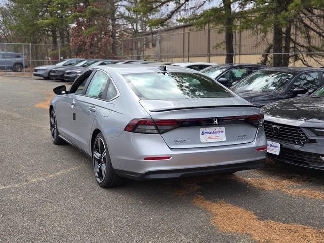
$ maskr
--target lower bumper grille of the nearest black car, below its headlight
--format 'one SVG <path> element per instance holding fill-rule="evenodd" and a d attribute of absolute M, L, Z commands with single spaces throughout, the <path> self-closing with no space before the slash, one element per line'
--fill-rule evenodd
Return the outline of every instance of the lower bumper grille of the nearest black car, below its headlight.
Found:
<path fill-rule="evenodd" d="M 281 148 L 279 155 L 268 153 L 267 156 L 299 165 L 315 164 L 324 167 L 324 160 L 320 158 L 321 155 L 316 153 L 307 153 L 299 150 Z"/>

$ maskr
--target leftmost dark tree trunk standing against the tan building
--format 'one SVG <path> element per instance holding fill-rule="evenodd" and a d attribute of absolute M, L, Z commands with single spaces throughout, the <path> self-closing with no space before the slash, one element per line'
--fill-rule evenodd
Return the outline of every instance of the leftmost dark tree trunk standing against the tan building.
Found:
<path fill-rule="evenodd" d="M 233 46 L 233 24 L 231 0 L 223 0 L 224 12 L 226 18 L 225 26 L 225 44 L 226 44 L 226 59 L 225 63 L 233 63 L 234 46 Z"/>

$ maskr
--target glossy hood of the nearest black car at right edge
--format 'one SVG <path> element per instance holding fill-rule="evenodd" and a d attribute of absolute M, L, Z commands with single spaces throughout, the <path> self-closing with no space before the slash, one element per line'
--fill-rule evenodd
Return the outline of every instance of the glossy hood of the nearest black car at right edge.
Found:
<path fill-rule="evenodd" d="M 324 123 L 324 99 L 311 96 L 277 101 L 262 107 L 266 116 L 276 119 Z"/>

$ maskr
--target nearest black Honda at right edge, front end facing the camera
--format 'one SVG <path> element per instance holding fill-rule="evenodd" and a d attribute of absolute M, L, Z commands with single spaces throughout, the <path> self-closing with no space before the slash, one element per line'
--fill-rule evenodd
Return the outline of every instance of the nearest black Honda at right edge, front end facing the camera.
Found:
<path fill-rule="evenodd" d="M 324 170 L 324 86 L 312 95 L 274 102 L 261 110 L 269 157 Z"/>

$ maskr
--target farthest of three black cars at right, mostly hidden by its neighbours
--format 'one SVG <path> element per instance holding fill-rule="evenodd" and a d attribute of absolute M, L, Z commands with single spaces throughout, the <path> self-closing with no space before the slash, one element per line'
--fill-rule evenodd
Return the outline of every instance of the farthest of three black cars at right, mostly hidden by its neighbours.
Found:
<path fill-rule="evenodd" d="M 265 65 L 258 64 L 222 64 L 207 67 L 200 72 L 217 80 L 226 87 L 231 87 L 234 83 L 237 83 L 251 73 L 266 67 Z"/>

